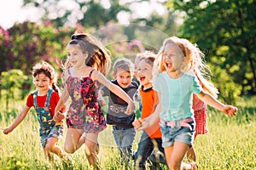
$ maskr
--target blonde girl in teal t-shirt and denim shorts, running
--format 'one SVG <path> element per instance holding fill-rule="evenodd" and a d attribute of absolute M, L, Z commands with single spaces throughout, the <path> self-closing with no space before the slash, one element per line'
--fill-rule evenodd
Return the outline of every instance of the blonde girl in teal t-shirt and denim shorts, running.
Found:
<path fill-rule="evenodd" d="M 200 49 L 186 39 L 166 38 L 155 60 L 158 70 L 153 81 L 160 103 L 151 116 L 133 123 L 135 128 L 142 130 L 153 125 L 160 116 L 162 146 L 170 169 L 197 168 L 195 163 L 183 162 L 187 150 L 193 144 L 195 134 L 193 94 L 218 111 L 229 116 L 236 115 L 236 107 L 222 104 L 207 90 L 201 88 L 197 79 L 200 71 L 195 73 L 196 77 L 186 73 L 195 64 L 204 66 L 201 54 Z"/>

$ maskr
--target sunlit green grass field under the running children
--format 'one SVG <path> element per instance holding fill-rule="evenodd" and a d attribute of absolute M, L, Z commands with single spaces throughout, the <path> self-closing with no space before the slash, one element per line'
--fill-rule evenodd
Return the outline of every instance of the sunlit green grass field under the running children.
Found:
<path fill-rule="evenodd" d="M 208 108 L 206 135 L 195 140 L 195 150 L 200 169 L 254 169 L 256 170 L 256 97 L 241 99 L 235 117 L 225 116 Z M 13 101 L 9 111 L 4 102 L 0 107 L 1 129 L 7 127 L 19 114 L 25 101 Z M 133 150 L 137 150 L 140 132 L 137 132 Z M 121 166 L 111 128 L 99 135 L 98 158 L 102 169 L 132 169 Z M 63 147 L 64 139 L 60 142 Z M 73 167 L 68 169 L 90 169 L 84 156 L 84 148 L 71 155 Z M 55 163 L 44 160 L 38 136 L 38 121 L 32 109 L 24 122 L 9 135 L 0 133 L 0 169 L 67 169 L 55 156 Z M 164 169 L 167 169 L 164 167 Z"/>

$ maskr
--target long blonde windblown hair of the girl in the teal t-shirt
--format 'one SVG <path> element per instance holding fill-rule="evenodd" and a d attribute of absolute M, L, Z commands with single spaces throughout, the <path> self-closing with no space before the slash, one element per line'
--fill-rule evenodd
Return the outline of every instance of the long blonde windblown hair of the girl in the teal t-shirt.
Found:
<path fill-rule="evenodd" d="M 181 65 L 181 70 L 183 72 L 189 72 L 194 74 L 201 82 L 202 88 L 206 90 L 209 94 L 212 94 L 215 98 L 218 96 L 218 89 L 214 87 L 212 82 L 208 82 L 212 76 L 211 70 L 205 62 L 205 55 L 197 47 L 197 45 L 192 44 L 189 40 L 179 37 L 168 37 L 163 42 L 160 48 L 157 58 L 154 60 L 153 77 L 166 71 L 163 62 L 163 53 L 168 43 L 174 43 L 184 54 L 184 60 Z"/>

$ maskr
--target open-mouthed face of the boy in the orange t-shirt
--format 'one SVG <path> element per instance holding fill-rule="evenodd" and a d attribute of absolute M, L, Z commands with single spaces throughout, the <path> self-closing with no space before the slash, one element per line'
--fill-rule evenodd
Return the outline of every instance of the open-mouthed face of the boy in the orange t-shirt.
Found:
<path fill-rule="evenodd" d="M 138 65 L 137 79 L 144 87 L 151 86 L 150 80 L 152 79 L 152 65 L 149 65 L 145 59 L 141 60 Z"/>

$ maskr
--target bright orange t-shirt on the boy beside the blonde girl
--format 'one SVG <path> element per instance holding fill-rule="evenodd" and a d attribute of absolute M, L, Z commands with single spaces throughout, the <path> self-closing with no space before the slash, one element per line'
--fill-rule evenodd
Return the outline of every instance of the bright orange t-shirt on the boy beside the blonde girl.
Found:
<path fill-rule="evenodd" d="M 141 99 L 142 99 L 142 118 L 146 118 L 150 116 L 154 111 L 154 90 L 152 88 L 148 88 L 145 91 L 143 87 L 139 89 Z M 162 133 L 160 132 L 160 118 L 157 122 L 154 123 L 153 126 L 145 129 L 146 133 L 151 139 L 161 138 Z"/>

